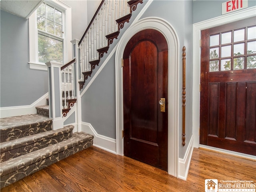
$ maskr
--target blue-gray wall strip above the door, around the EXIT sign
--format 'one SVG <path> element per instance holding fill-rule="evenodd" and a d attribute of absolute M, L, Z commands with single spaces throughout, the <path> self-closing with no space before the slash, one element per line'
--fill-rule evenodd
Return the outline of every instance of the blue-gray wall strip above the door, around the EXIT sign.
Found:
<path fill-rule="evenodd" d="M 228 0 L 196 0 L 193 3 L 194 23 L 221 16 L 222 3 Z M 255 0 L 248 0 L 248 8 L 256 6 Z"/>

